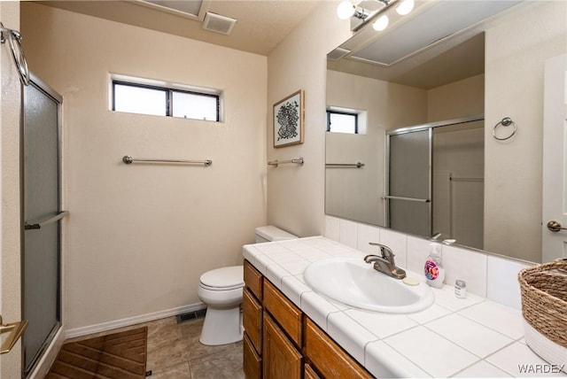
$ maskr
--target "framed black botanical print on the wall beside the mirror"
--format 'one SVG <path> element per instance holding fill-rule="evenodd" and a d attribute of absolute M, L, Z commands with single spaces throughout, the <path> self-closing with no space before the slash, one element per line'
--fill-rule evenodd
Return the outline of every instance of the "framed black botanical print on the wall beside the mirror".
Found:
<path fill-rule="evenodd" d="M 303 143 L 304 91 L 299 89 L 274 104 L 274 147 Z"/>

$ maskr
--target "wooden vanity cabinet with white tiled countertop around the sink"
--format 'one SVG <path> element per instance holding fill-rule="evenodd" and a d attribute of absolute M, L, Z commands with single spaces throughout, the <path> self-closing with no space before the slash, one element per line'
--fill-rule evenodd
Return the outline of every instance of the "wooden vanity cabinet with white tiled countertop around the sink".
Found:
<path fill-rule="evenodd" d="M 456 298 L 444 286 L 423 311 L 377 313 L 303 280 L 312 262 L 365 255 L 322 236 L 245 245 L 247 377 L 503 377 L 546 364 L 524 343 L 521 313 L 485 298 Z"/>

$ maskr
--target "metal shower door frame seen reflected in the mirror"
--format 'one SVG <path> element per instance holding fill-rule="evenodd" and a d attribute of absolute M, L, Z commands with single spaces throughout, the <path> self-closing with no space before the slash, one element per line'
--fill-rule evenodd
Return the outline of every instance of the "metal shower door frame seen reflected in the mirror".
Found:
<path fill-rule="evenodd" d="M 421 132 L 421 131 L 425 131 L 425 130 L 429 130 L 429 145 L 430 145 L 430 157 L 429 157 L 429 199 L 408 199 L 406 198 L 405 200 L 415 200 L 415 201 L 425 201 L 428 202 L 429 204 L 429 220 L 430 220 L 430 234 L 429 236 L 432 236 L 434 231 L 433 231 L 433 220 L 432 220 L 432 214 L 433 214 L 433 193 L 432 193 L 432 182 L 433 182 L 433 128 L 439 128 L 439 127 L 449 127 L 451 125 L 458 125 L 458 124 L 464 124 L 467 122 L 472 122 L 472 121 L 481 121 L 481 120 L 485 120 L 485 115 L 484 113 L 480 113 L 480 114 L 475 114 L 473 116 L 467 116 L 467 117 L 462 117 L 459 119 L 453 119 L 453 120 L 442 120 L 442 121 L 435 121 L 435 122 L 428 122 L 425 124 L 418 124 L 415 126 L 411 126 L 411 127 L 407 127 L 407 128 L 398 128 L 398 129 L 394 129 L 392 131 L 388 131 L 386 132 L 386 149 L 385 149 L 385 181 L 384 181 L 384 200 L 386 202 L 385 205 L 385 212 L 386 212 L 386 228 L 391 228 L 391 222 L 390 222 L 390 199 L 391 199 L 391 195 L 390 195 L 390 137 L 392 135 L 403 135 L 403 134 L 407 134 L 407 133 L 414 133 L 414 132 Z M 428 201 L 426 201 L 428 200 Z"/>

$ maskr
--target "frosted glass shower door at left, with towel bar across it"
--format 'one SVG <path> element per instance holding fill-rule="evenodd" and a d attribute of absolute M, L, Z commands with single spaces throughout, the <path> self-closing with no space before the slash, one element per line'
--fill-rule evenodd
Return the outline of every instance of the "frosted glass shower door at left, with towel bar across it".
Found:
<path fill-rule="evenodd" d="M 24 88 L 22 136 L 23 337 L 27 376 L 60 327 L 59 107 L 61 97 L 32 78 Z"/>

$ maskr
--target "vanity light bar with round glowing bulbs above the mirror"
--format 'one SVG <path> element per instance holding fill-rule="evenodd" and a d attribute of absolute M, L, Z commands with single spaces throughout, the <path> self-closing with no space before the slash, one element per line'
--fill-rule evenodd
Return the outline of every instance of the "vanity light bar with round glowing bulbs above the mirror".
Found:
<path fill-rule="evenodd" d="M 374 0 L 383 6 L 375 11 L 362 8 L 361 6 L 354 5 L 351 1 L 345 0 L 338 4 L 337 15 L 339 19 L 351 19 L 351 30 L 356 32 L 364 25 L 372 22 L 372 27 L 377 31 L 382 31 L 390 22 L 390 19 L 385 14 L 394 4 L 396 12 L 404 16 L 414 9 L 415 0 Z M 365 2 L 368 5 L 368 1 Z"/>

